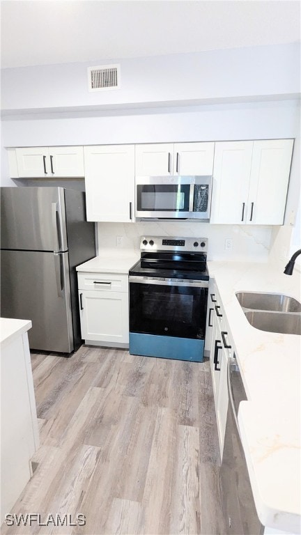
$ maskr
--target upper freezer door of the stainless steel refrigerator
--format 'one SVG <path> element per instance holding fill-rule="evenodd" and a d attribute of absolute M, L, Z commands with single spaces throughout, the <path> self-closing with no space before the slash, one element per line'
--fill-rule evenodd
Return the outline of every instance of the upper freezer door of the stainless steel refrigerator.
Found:
<path fill-rule="evenodd" d="M 62 187 L 1 187 L 1 249 L 66 251 Z"/>

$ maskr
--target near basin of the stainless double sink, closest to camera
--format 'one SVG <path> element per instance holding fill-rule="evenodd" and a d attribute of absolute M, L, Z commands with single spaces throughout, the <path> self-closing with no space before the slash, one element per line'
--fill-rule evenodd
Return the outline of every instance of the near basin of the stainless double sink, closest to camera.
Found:
<path fill-rule="evenodd" d="M 250 310 L 245 316 L 252 327 L 261 331 L 301 334 L 301 314 Z"/>

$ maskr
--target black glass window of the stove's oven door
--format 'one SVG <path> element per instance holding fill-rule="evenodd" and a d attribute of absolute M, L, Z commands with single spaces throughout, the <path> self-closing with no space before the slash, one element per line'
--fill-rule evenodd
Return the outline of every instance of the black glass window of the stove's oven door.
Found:
<path fill-rule="evenodd" d="M 130 332 L 204 339 L 207 288 L 130 283 Z"/>

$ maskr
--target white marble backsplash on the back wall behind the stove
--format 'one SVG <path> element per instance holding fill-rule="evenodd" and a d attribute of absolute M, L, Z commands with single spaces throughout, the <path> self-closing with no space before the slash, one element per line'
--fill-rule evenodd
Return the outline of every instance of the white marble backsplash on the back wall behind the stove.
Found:
<path fill-rule="evenodd" d="M 200 222 L 98 223 L 98 249 L 137 251 L 141 235 L 208 238 L 208 260 L 267 262 L 272 227 L 249 225 L 213 225 Z M 121 245 L 116 245 L 121 237 Z M 225 248 L 225 240 L 233 248 Z"/>

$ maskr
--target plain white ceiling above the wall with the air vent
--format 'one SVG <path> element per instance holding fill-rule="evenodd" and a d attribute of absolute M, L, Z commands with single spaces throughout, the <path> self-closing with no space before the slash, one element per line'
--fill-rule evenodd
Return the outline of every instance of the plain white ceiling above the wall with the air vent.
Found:
<path fill-rule="evenodd" d="M 2 68 L 299 40 L 299 0 L 1 0 Z"/>

